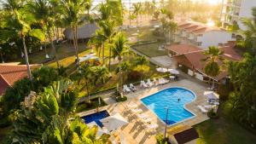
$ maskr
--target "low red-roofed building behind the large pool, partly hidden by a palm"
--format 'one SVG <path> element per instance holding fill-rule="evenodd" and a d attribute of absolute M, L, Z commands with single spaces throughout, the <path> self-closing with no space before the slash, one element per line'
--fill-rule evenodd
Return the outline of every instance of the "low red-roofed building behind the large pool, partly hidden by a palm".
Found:
<path fill-rule="evenodd" d="M 234 49 L 235 43 L 230 41 L 229 43 L 219 44 L 219 49 L 224 51 L 224 59 L 226 60 L 241 60 L 241 55 L 239 55 Z M 206 57 L 204 55 L 205 50 L 200 50 L 200 48 L 180 44 L 172 45 L 167 47 L 169 54 L 172 55 L 172 60 L 177 62 L 177 67 L 183 72 L 188 73 L 191 77 L 200 79 L 201 81 L 207 81 L 207 74 L 204 72 L 205 62 L 202 61 Z M 219 61 L 220 66 L 223 65 L 223 62 Z M 211 78 L 216 82 L 226 82 L 228 78 L 228 73 L 223 71 L 218 74 L 217 77 Z"/>

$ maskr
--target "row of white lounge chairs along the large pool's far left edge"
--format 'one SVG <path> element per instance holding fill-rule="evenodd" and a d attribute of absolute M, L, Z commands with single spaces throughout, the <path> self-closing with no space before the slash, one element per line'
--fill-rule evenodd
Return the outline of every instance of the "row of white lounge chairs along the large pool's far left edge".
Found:
<path fill-rule="evenodd" d="M 150 88 L 154 85 L 159 85 L 159 84 L 167 84 L 169 83 L 169 80 L 167 80 L 166 78 L 158 78 L 158 80 L 156 80 L 156 78 L 153 79 L 153 81 L 151 81 L 149 78 L 147 79 L 147 81 L 141 81 L 140 86 L 142 88 Z M 123 85 L 123 91 L 124 92 L 131 92 L 131 91 L 136 91 L 137 88 L 133 85 L 133 84 L 129 84 L 128 85 Z"/>

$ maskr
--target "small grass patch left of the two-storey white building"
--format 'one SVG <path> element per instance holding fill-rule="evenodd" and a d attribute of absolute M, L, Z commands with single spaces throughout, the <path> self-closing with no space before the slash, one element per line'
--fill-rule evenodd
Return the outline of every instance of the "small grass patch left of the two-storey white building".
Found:
<path fill-rule="evenodd" d="M 164 56 L 168 55 L 166 50 L 159 50 L 159 46 L 163 43 L 148 43 L 143 45 L 133 46 L 133 49 L 147 55 L 148 57 Z"/>

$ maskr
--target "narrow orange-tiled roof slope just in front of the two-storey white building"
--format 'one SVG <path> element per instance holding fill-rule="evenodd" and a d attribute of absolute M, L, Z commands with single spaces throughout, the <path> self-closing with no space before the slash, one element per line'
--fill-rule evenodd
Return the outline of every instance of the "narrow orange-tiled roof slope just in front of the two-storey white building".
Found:
<path fill-rule="evenodd" d="M 172 50 L 173 52 L 177 53 L 177 55 L 201 50 L 200 48 L 189 44 L 172 44 L 166 49 Z"/>

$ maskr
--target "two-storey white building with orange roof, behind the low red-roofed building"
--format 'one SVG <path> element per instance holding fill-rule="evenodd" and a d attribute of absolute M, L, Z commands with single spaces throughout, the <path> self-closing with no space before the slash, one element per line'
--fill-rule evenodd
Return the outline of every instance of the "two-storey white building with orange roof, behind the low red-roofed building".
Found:
<path fill-rule="evenodd" d="M 195 21 L 177 22 L 178 31 L 175 33 L 175 43 L 185 43 L 207 49 L 209 46 L 218 46 L 219 43 L 228 43 L 232 34 L 224 29 L 207 26 Z"/>

